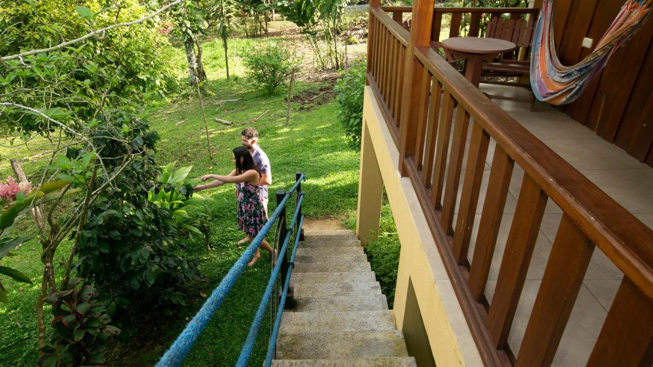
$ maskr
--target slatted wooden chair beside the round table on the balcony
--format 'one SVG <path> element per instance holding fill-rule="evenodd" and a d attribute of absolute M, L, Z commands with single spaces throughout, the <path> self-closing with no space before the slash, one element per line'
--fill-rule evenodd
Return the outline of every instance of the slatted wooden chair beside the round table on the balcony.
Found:
<path fill-rule="evenodd" d="M 528 57 L 533 40 L 535 18 L 530 20 L 523 19 L 503 19 L 500 17 L 492 18 L 488 23 L 485 37 L 494 39 L 509 40 L 517 44 L 517 48 L 512 52 L 506 52 L 492 62 L 483 64 L 483 74 L 481 74 L 481 83 L 499 84 L 503 86 L 518 86 L 530 89 L 529 82 L 523 82 L 524 78 L 528 79 L 530 75 L 530 61 L 519 59 Z M 526 56 L 526 57 L 524 57 Z M 517 82 L 494 80 L 494 78 L 517 78 Z M 530 98 L 505 97 L 502 95 L 488 95 L 494 99 L 507 99 L 509 101 L 530 102 L 531 110 L 535 109 L 535 95 L 531 91 Z"/>

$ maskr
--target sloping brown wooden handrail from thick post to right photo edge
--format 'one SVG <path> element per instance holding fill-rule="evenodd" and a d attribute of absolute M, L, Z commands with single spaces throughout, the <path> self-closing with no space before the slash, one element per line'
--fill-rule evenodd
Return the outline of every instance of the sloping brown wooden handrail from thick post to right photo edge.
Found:
<path fill-rule="evenodd" d="M 430 47 L 415 56 L 596 246 L 653 299 L 653 230 L 494 104 Z"/>

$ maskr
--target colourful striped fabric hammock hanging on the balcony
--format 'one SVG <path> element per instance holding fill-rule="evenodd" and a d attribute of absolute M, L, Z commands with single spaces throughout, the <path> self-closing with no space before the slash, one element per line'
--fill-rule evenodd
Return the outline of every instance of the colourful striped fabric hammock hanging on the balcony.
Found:
<path fill-rule="evenodd" d="M 535 97 L 550 104 L 571 103 L 587 88 L 651 13 L 653 0 L 627 0 L 592 54 L 573 66 L 558 59 L 553 37 L 553 0 L 544 0 L 533 38 L 530 80 Z"/>

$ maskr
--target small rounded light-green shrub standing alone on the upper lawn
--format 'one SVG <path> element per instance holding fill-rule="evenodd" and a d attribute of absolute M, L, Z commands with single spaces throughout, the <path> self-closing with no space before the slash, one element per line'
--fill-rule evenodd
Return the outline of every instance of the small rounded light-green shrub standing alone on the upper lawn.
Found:
<path fill-rule="evenodd" d="M 244 64 L 251 80 L 272 94 L 293 73 L 297 61 L 285 48 L 270 44 L 248 54 Z"/>

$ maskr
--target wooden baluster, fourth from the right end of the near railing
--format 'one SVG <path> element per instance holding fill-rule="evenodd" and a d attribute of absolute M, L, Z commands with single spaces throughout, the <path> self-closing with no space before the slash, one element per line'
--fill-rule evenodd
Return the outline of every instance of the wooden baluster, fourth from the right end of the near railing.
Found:
<path fill-rule="evenodd" d="M 476 246 L 471 261 L 469 284 L 471 295 L 476 302 L 481 302 L 485 293 L 514 165 L 515 161 L 497 145 L 494 148 L 490 180 L 485 192 L 483 214 L 481 214 L 479 233 L 476 236 Z"/>

